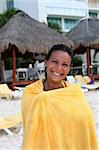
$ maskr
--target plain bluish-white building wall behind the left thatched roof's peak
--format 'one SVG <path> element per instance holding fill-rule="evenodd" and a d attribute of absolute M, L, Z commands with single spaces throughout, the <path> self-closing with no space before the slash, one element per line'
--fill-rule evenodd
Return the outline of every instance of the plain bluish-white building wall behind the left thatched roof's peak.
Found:
<path fill-rule="evenodd" d="M 31 17 L 41 22 L 46 22 L 46 0 L 14 0 L 14 7 L 28 13 Z"/>

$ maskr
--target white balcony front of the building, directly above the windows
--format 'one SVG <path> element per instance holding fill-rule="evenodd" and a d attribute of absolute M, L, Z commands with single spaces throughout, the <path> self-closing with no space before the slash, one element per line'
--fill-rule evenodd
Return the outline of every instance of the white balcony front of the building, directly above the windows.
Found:
<path fill-rule="evenodd" d="M 48 14 L 66 16 L 86 16 L 86 1 L 77 0 L 46 0 Z"/>

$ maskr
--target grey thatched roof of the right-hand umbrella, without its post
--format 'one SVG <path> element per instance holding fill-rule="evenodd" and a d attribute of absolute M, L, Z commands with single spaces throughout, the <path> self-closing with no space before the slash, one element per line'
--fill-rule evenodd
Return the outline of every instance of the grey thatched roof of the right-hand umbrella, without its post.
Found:
<path fill-rule="evenodd" d="M 81 20 L 66 36 L 74 42 L 74 49 L 79 47 L 99 49 L 99 19 Z"/>

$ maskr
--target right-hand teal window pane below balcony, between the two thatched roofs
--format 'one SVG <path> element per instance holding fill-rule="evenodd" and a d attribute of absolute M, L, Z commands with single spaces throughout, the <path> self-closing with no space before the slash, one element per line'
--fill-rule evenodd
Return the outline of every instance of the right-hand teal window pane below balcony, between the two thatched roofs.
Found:
<path fill-rule="evenodd" d="M 66 30 L 70 30 L 77 24 L 77 19 L 64 19 L 64 26 Z"/>

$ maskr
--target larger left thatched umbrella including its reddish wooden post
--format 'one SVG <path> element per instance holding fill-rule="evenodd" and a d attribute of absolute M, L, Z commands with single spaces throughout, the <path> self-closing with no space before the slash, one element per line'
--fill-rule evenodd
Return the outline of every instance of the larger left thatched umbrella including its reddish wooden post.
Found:
<path fill-rule="evenodd" d="M 3 52 L 9 46 L 13 50 L 13 83 L 16 82 L 16 48 L 23 54 L 26 51 L 47 53 L 50 47 L 56 43 L 73 47 L 73 42 L 67 37 L 32 19 L 24 12 L 14 15 L 0 29 L 0 52 Z"/>

